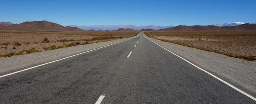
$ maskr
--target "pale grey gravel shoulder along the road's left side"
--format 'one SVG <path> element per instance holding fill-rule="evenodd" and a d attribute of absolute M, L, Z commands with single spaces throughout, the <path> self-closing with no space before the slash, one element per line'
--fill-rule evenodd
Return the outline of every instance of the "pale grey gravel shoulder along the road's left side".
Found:
<path fill-rule="evenodd" d="M 136 37 L 0 58 L 0 76 Z"/>

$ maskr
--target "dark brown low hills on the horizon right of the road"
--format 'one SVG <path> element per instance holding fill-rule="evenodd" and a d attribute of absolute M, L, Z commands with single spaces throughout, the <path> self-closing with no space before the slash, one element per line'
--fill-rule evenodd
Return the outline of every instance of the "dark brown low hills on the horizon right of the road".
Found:
<path fill-rule="evenodd" d="M 163 29 L 164 31 L 256 31 L 256 24 L 243 24 L 239 26 L 227 26 L 227 27 L 218 27 L 218 26 L 183 26 L 179 25 L 176 27 L 170 27 Z"/>

